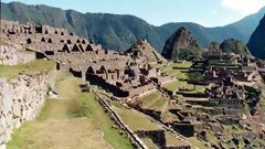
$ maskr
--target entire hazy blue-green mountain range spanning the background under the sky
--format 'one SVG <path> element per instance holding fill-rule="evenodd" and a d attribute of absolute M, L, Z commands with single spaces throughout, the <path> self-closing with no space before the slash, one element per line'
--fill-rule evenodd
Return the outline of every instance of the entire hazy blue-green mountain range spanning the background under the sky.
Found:
<path fill-rule="evenodd" d="M 237 39 L 247 43 L 255 31 L 265 8 L 235 23 L 204 28 L 195 23 L 168 23 L 153 26 L 134 15 L 108 13 L 81 13 L 74 10 L 62 10 L 47 6 L 26 6 L 20 2 L 1 2 L 1 19 L 20 22 L 33 21 L 55 28 L 66 28 L 78 35 L 94 40 L 106 49 L 125 51 L 138 39 L 147 39 L 161 53 L 166 40 L 179 28 L 184 26 L 192 32 L 198 42 L 206 46 L 212 41 L 221 43 L 225 39 Z"/>

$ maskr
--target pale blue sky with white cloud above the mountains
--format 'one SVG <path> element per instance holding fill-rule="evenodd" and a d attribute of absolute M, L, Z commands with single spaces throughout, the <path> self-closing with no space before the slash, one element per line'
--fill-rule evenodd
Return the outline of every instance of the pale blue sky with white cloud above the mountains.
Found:
<path fill-rule="evenodd" d="M 13 0 L 2 0 L 10 2 Z M 17 0 L 26 4 L 47 4 L 81 12 L 137 15 L 153 25 L 195 22 L 219 26 L 257 12 L 265 0 Z"/>

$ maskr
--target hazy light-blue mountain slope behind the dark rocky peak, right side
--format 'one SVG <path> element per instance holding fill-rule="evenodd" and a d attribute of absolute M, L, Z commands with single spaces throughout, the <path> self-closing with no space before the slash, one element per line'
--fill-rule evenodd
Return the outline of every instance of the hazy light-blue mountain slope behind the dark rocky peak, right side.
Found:
<path fill-rule="evenodd" d="M 157 30 L 162 30 L 167 38 L 168 34 L 172 34 L 177 29 L 184 26 L 194 34 L 201 45 L 209 45 L 212 41 L 221 43 L 225 39 L 236 39 L 241 40 L 243 43 L 247 43 L 251 34 L 255 31 L 258 22 L 265 13 L 265 8 L 259 10 L 255 14 L 251 14 L 235 23 L 216 26 L 216 28 L 204 28 L 195 23 L 168 23 Z"/>

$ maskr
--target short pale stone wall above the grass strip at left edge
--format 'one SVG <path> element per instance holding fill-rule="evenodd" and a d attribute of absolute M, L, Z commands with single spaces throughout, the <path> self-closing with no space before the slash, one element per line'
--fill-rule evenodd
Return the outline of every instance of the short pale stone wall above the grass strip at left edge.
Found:
<path fill-rule="evenodd" d="M 35 53 L 26 52 L 19 44 L 0 41 L 0 65 L 25 64 L 35 60 Z"/>

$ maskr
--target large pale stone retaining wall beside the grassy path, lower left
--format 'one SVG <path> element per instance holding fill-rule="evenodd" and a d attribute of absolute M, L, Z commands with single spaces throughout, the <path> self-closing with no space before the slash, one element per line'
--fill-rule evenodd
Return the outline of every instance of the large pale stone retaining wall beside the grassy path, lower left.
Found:
<path fill-rule="evenodd" d="M 17 128 L 36 117 L 49 88 L 54 87 L 54 71 L 0 78 L 0 149 L 6 149 L 6 142 Z"/>

